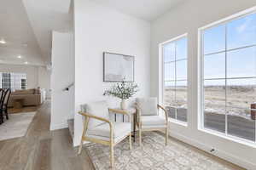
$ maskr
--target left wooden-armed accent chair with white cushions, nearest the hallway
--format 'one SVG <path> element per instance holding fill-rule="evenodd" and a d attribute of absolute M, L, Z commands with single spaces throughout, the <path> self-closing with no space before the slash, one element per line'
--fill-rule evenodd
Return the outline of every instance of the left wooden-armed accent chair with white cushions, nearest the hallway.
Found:
<path fill-rule="evenodd" d="M 84 116 L 84 130 L 79 154 L 84 141 L 108 145 L 110 146 L 110 164 L 114 167 L 113 146 L 129 136 L 131 150 L 131 122 L 111 122 L 109 113 L 130 116 L 125 111 L 108 109 L 106 101 L 82 105 L 82 111 L 79 114 Z"/>

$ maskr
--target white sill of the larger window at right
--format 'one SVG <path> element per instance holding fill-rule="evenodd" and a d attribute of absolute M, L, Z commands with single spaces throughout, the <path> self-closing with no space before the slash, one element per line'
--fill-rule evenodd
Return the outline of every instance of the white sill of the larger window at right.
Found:
<path fill-rule="evenodd" d="M 247 145 L 249 147 L 252 148 L 256 148 L 256 143 L 254 143 L 253 141 L 247 140 L 247 139 L 241 139 L 239 137 L 236 136 L 230 136 L 230 135 L 225 135 L 224 133 L 218 133 L 216 131 L 213 131 L 211 129 L 207 129 L 207 128 L 198 128 L 199 131 L 204 132 L 204 133 L 208 133 L 208 134 L 212 134 L 214 136 L 218 136 L 220 138 L 223 139 L 228 139 L 232 142 L 236 142 L 238 144 L 244 144 Z"/>

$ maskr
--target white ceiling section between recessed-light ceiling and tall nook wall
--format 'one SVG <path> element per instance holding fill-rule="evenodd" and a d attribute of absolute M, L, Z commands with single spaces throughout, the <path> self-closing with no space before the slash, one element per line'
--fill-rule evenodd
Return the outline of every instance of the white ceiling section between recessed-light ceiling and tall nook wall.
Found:
<path fill-rule="evenodd" d="M 44 59 L 49 65 L 52 31 L 72 28 L 71 0 L 22 0 Z"/>

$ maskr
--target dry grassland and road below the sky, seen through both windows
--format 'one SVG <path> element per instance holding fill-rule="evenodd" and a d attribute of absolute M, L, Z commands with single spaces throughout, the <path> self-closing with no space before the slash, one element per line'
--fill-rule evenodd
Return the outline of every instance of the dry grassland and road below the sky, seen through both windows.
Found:
<path fill-rule="evenodd" d="M 227 86 L 226 89 L 225 86 L 205 86 L 204 89 L 204 126 L 225 133 L 227 113 L 227 133 L 255 141 L 255 116 L 250 108 L 256 102 L 256 86 Z M 177 120 L 186 122 L 186 87 L 166 87 L 164 102 L 170 117 L 175 118 L 177 111 Z"/>

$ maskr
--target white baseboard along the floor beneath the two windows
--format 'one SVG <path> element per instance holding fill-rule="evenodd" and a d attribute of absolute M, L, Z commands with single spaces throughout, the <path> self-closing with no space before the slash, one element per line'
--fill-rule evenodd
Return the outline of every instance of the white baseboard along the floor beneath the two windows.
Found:
<path fill-rule="evenodd" d="M 193 146 L 195 146 L 196 148 L 199 148 L 201 150 L 206 151 L 207 153 L 212 154 L 213 156 L 218 156 L 226 161 L 230 161 L 240 167 L 244 167 L 247 170 L 255 170 L 256 169 L 256 165 L 253 164 L 252 162 L 246 161 L 246 160 L 242 160 L 241 157 L 237 157 L 237 156 L 233 156 L 230 155 L 230 153 L 227 153 L 223 150 L 216 150 L 214 152 L 210 152 L 209 150 L 212 150 L 211 146 L 208 146 L 207 144 L 203 144 L 200 141 L 194 140 L 194 139 L 189 139 L 179 133 L 169 133 L 170 136 L 172 136 L 173 138 L 179 139 L 181 141 L 183 141 L 184 143 L 187 144 L 191 144 Z"/>

